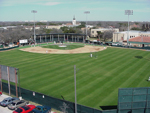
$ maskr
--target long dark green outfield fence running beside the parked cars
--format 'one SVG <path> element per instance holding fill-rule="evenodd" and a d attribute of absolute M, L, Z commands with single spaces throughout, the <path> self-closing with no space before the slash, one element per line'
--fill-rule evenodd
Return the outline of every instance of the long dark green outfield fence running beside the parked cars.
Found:
<path fill-rule="evenodd" d="M 8 84 L 2 83 L 3 91 L 8 93 Z M 16 95 L 16 89 L 14 85 L 10 85 L 11 87 L 11 94 Z M 57 99 L 54 97 L 50 97 L 38 92 L 30 91 L 27 89 L 19 88 L 18 87 L 18 95 L 22 96 L 23 99 L 41 104 L 41 105 L 48 105 L 56 110 L 62 111 L 63 103 L 67 104 L 69 108 L 67 108 L 68 113 L 75 113 L 75 103 L 69 102 L 66 100 Z M 78 113 L 117 113 L 117 109 L 115 110 L 98 110 L 94 108 L 90 108 L 87 106 L 83 106 L 78 104 L 77 105 Z"/>

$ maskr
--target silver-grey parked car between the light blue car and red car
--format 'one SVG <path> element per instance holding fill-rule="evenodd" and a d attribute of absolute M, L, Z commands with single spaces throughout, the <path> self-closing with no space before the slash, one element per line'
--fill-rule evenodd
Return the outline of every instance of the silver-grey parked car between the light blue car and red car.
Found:
<path fill-rule="evenodd" d="M 22 107 L 29 104 L 28 101 L 25 100 L 15 100 L 11 104 L 8 105 L 8 109 L 15 110 L 16 108 Z"/>

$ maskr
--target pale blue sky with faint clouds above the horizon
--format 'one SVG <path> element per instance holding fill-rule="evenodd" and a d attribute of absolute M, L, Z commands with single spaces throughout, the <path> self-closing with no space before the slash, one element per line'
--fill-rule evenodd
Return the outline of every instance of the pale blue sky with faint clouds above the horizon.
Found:
<path fill-rule="evenodd" d="M 150 0 L 0 0 L 0 21 L 128 21 L 125 10 L 129 21 L 150 22 Z"/>

